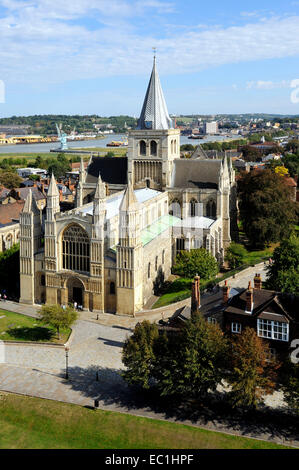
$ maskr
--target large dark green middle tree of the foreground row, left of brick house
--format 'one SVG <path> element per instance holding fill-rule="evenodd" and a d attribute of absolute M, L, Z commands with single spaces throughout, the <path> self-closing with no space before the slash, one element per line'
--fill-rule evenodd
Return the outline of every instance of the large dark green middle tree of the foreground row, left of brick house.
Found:
<path fill-rule="evenodd" d="M 155 349 L 153 374 L 162 396 L 202 399 L 221 383 L 227 343 L 220 328 L 201 314 L 177 335 L 160 338 Z"/>

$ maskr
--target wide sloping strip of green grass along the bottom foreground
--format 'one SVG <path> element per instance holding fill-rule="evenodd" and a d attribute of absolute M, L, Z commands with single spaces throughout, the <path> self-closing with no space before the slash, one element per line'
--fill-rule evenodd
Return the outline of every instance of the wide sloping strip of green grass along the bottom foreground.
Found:
<path fill-rule="evenodd" d="M 1 393 L 1 449 L 285 449 L 183 424 Z"/>

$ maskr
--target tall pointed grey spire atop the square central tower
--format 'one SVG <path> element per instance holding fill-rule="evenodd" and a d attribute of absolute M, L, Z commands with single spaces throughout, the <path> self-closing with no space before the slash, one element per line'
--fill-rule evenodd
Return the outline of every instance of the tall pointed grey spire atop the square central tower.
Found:
<path fill-rule="evenodd" d="M 156 56 L 137 129 L 173 129 L 156 67 Z"/>

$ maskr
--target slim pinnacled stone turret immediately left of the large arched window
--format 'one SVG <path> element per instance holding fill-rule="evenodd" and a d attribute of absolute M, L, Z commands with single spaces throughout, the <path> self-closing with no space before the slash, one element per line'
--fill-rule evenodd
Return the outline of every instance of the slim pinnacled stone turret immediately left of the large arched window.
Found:
<path fill-rule="evenodd" d="M 59 191 L 52 173 L 47 193 L 47 208 L 45 220 L 45 273 L 46 273 L 46 302 L 57 303 L 56 276 L 58 253 L 55 215 L 60 212 Z"/>

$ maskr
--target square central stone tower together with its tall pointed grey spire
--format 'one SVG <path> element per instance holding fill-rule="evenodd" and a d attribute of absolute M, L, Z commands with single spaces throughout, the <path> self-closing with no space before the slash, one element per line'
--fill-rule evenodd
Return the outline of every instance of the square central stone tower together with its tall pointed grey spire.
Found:
<path fill-rule="evenodd" d="M 165 103 L 156 58 L 138 126 L 129 132 L 128 181 L 134 188 L 165 190 L 172 162 L 180 158 L 180 131 L 173 128 Z"/>

